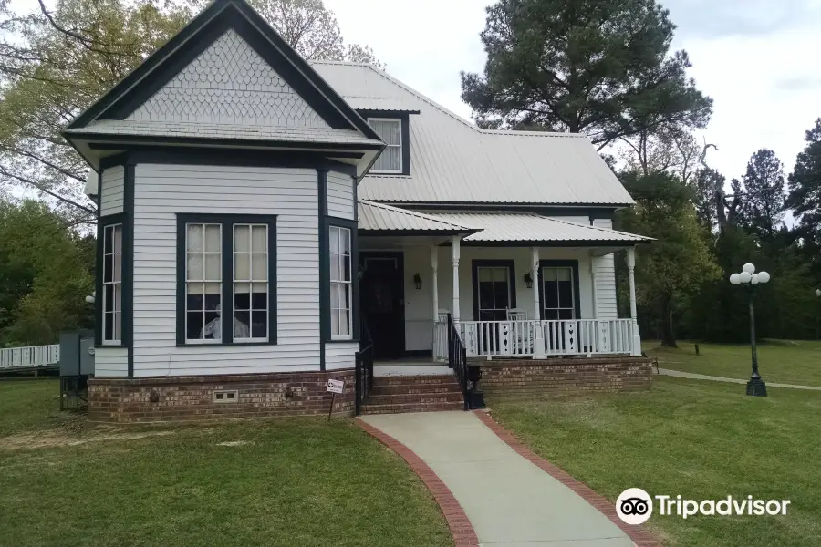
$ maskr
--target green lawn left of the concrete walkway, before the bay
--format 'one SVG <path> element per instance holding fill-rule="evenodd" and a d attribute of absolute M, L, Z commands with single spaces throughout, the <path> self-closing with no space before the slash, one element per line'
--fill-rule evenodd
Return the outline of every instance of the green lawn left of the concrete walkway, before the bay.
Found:
<path fill-rule="evenodd" d="M 0 383 L 0 544 L 452 545 L 421 480 L 349 420 L 82 428 L 56 393 Z"/>

